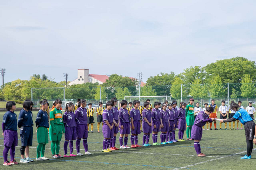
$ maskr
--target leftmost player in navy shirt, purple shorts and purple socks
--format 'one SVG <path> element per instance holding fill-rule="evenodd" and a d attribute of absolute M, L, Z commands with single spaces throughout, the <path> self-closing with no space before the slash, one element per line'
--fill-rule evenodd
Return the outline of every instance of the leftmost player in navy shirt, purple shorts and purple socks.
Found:
<path fill-rule="evenodd" d="M 17 115 L 14 113 L 16 110 L 16 103 L 9 101 L 6 103 L 7 112 L 4 113 L 2 121 L 2 130 L 4 135 L 4 164 L 5 166 L 16 165 L 18 162 L 14 159 L 15 147 L 18 146 L 18 133 L 17 133 Z M 11 162 L 7 160 L 8 151 L 10 149 Z"/>

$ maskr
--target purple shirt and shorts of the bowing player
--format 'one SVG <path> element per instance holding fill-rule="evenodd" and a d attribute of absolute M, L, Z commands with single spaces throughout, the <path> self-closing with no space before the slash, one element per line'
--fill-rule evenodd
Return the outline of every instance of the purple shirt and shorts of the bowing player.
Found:
<path fill-rule="evenodd" d="M 201 141 L 203 135 L 202 127 L 206 124 L 206 122 L 212 122 L 212 119 L 209 119 L 209 116 L 204 113 L 204 111 L 200 111 L 196 116 L 194 121 L 194 125 L 191 130 L 191 139 Z"/>

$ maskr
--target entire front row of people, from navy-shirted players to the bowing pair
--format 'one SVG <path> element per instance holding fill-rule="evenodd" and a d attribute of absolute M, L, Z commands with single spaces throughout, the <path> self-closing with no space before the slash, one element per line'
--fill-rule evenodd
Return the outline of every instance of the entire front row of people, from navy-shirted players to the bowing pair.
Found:
<path fill-rule="evenodd" d="M 134 108 L 128 113 L 126 109 L 128 102 L 122 100 L 120 102 L 120 109 L 116 107 L 118 100 L 112 98 L 111 101 L 106 102 L 106 109 L 102 109 L 102 114 L 98 113 L 98 117 L 102 117 L 102 132 L 104 136 L 103 140 L 103 152 L 111 152 L 112 150 L 118 150 L 115 147 L 116 135 L 120 129 L 120 149 L 127 149 L 128 134 L 131 130 L 131 144 L 133 148 L 141 147 L 138 145 L 138 134 L 141 130 L 141 114 L 140 114 L 140 101 L 135 100 L 133 102 Z M 144 109 L 142 111 L 142 127 L 143 127 L 143 146 L 150 146 L 149 139 L 150 134 L 152 133 L 153 145 L 165 145 L 167 143 L 176 142 L 175 139 L 175 130 L 179 129 L 178 141 L 185 141 L 183 139 L 184 131 L 187 125 L 187 139 L 194 139 L 194 148 L 198 156 L 206 156 L 202 154 L 200 149 L 200 143 L 202 137 L 202 127 L 206 122 L 215 121 L 216 113 L 214 113 L 215 108 L 212 107 L 212 104 L 209 107 L 204 108 L 204 111 L 200 111 L 196 116 L 194 116 L 194 99 L 190 99 L 190 104 L 181 102 L 180 108 L 177 109 L 177 102 L 172 101 L 172 104 L 162 104 L 160 102 L 154 102 L 154 108 L 150 110 L 150 103 L 144 102 Z M 78 102 L 78 108 L 75 113 L 73 112 L 74 104 L 66 104 L 66 112 L 62 115 L 60 110 L 62 101 L 55 100 L 54 108 L 50 111 L 50 141 L 52 158 L 62 158 L 59 154 L 60 150 L 60 140 L 62 134 L 65 134 L 64 141 L 64 157 L 70 156 L 81 156 L 80 153 L 80 141 L 82 139 L 85 154 L 90 154 L 88 152 L 87 137 L 88 137 L 88 113 L 86 107 L 86 100 L 80 100 Z M 15 146 L 18 145 L 18 134 L 17 134 L 17 125 L 20 128 L 20 137 L 21 137 L 21 163 L 32 162 L 33 160 L 29 158 L 28 147 L 32 145 L 32 135 L 33 128 L 32 126 L 32 106 L 33 103 L 30 100 L 26 100 L 23 104 L 24 109 L 20 111 L 18 122 L 17 115 L 14 113 L 16 109 L 16 104 L 14 102 L 7 102 L 6 108 L 8 111 L 4 114 L 4 119 L 2 123 L 3 135 L 4 135 L 4 165 L 18 164 L 14 159 Z M 45 145 L 48 143 L 48 113 L 47 109 L 49 104 L 47 100 L 41 102 L 42 108 L 37 114 L 36 117 L 36 127 L 37 127 L 37 156 L 36 160 L 46 160 L 48 158 L 44 157 Z M 160 107 L 162 107 L 160 109 Z M 152 108 L 152 106 L 151 106 Z M 242 124 L 245 125 L 246 131 L 246 142 L 247 142 L 247 155 L 246 158 L 250 158 L 252 151 L 252 135 L 255 131 L 255 123 L 252 121 L 252 118 L 248 112 L 236 103 L 230 104 L 230 109 L 235 111 L 235 114 L 230 119 L 223 119 L 221 122 L 230 122 L 236 119 L 239 119 Z M 215 115 L 212 115 L 214 113 Z M 210 118 L 209 116 L 210 115 Z M 212 116 L 211 116 L 212 115 Z M 158 143 L 158 132 L 161 131 L 160 139 L 161 143 Z M 190 137 L 189 137 L 190 136 Z M 124 138 L 124 141 L 123 141 Z M 73 141 L 76 140 L 76 150 L 77 154 L 73 154 Z M 255 140 L 256 142 L 256 140 Z M 67 146 L 70 143 L 70 154 L 67 154 Z M 10 150 L 11 161 L 7 160 L 7 154 Z"/>

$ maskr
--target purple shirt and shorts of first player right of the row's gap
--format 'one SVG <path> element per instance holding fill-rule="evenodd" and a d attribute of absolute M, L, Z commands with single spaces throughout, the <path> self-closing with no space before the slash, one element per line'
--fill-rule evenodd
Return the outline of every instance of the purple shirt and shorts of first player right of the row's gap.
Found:
<path fill-rule="evenodd" d="M 102 118 L 103 118 L 103 126 L 102 126 L 103 137 L 104 138 L 112 138 L 114 136 L 114 131 L 113 131 L 113 129 L 110 130 L 110 128 L 106 124 L 106 120 L 108 121 L 110 126 L 112 126 L 112 124 L 113 124 L 112 111 L 105 109 L 102 113 Z M 113 128 L 114 128 L 114 126 L 113 126 Z"/>

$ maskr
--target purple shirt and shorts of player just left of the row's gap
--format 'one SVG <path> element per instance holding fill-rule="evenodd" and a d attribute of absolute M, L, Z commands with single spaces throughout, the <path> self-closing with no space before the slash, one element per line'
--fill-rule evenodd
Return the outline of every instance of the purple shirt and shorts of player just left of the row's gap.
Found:
<path fill-rule="evenodd" d="M 78 139 L 88 138 L 87 109 L 79 107 L 75 111 L 76 137 Z"/>

